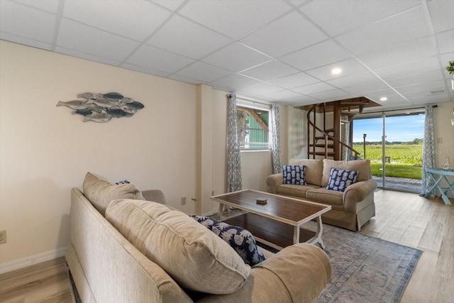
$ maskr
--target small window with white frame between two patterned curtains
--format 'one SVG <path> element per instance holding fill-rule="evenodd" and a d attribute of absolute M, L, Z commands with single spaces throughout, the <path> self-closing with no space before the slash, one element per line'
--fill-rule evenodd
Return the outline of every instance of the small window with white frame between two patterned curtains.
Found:
<path fill-rule="evenodd" d="M 238 141 L 241 150 L 269 150 L 270 131 L 267 109 L 237 105 Z"/>

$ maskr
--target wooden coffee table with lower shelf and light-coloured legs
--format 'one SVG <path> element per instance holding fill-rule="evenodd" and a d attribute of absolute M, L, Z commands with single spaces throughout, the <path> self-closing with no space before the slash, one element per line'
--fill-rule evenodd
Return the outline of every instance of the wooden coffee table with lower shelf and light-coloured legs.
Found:
<path fill-rule="evenodd" d="M 267 203 L 258 204 L 257 199 L 267 199 Z M 268 246 L 280 250 L 295 243 L 306 242 L 320 243 L 320 246 L 325 248 L 321 239 L 321 214 L 331 210 L 329 205 L 251 189 L 220 194 L 211 197 L 211 200 L 219 203 L 221 221 L 247 229 L 257 241 Z M 226 205 L 243 212 L 234 216 L 223 216 Z M 317 231 L 301 228 L 302 224 L 313 219 L 317 221 Z"/>

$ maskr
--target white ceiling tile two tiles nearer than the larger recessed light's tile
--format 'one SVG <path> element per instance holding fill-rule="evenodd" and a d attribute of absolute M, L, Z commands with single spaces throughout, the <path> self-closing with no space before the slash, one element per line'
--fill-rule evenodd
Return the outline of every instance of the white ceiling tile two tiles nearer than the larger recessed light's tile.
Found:
<path fill-rule="evenodd" d="M 260 30 L 241 39 L 241 42 L 261 50 L 267 55 L 279 57 L 328 37 L 297 12 L 277 19 Z"/>

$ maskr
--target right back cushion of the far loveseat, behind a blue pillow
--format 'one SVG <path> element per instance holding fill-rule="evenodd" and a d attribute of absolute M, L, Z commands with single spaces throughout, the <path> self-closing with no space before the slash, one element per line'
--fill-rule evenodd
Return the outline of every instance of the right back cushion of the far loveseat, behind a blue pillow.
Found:
<path fill-rule="evenodd" d="M 370 172 L 370 160 L 342 161 L 323 159 L 323 177 L 321 178 L 322 187 L 328 186 L 331 167 L 337 168 L 339 170 L 358 170 L 358 177 L 356 177 L 356 182 L 369 180 L 372 177 L 372 174 Z"/>

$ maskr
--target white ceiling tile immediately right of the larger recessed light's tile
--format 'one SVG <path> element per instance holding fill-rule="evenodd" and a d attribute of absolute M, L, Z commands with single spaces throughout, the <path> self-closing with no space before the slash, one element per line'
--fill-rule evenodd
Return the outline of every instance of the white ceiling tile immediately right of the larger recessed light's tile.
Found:
<path fill-rule="evenodd" d="M 433 55 L 436 55 L 436 49 L 433 47 L 432 39 L 425 37 L 391 48 L 367 53 L 359 56 L 358 59 L 368 67 L 377 69 L 420 60 L 425 57 L 432 57 Z"/>

